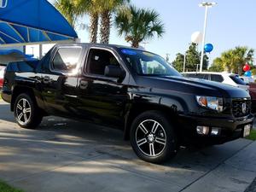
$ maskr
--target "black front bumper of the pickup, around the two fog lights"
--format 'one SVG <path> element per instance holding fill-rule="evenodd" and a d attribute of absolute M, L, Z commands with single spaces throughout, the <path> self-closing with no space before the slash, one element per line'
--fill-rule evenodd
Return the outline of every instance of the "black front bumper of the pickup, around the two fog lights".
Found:
<path fill-rule="evenodd" d="M 179 136 L 183 143 L 222 144 L 243 137 L 244 126 L 253 126 L 253 119 L 253 114 L 242 118 L 223 119 L 182 115 L 178 120 L 178 125 L 183 128 L 179 130 Z M 199 135 L 196 131 L 196 126 L 199 125 L 210 127 L 209 134 Z M 220 128 L 220 134 L 211 135 L 212 127 Z"/>

